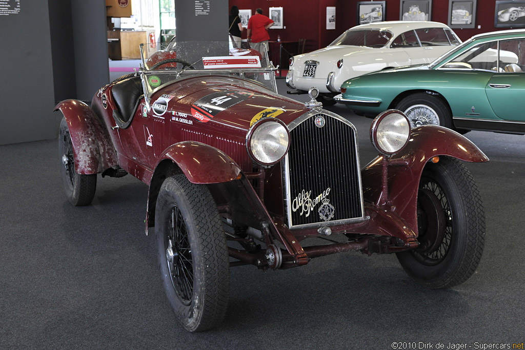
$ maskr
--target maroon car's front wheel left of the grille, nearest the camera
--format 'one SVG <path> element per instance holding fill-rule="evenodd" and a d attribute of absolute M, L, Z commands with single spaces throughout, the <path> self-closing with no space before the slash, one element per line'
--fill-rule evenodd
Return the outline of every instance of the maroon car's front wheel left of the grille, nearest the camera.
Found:
<path fill-rule="evenodd" d="M 217 326 L 228 306 L 229 258 L 208 188 L 184 175 L 166 178 L 156 202 L 155 234 L 164 291 L 177 319 L 190 332 Z"/>

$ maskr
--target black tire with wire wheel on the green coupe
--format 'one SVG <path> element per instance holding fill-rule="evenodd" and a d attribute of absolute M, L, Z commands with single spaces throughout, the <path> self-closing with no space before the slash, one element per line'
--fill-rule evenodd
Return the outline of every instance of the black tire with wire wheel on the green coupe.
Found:
<path fill-rule="evenodd" d="M 428 93 L 413 93 L 401 100 L 395 108 L 406 114 L 412 128 L 433 124 L 453 129 L 450 110 L 442 100 Z"/>

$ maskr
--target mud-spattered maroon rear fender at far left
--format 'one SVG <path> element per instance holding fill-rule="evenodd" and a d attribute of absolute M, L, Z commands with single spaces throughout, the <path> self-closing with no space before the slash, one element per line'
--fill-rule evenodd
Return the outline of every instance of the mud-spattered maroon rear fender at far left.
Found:
<path fill-rule="evenodd" d="M 97 174 L 117 165 L 117 152 L 111 138 L 89 106 L 78 100 L 65 100 L 56 105 L 66 118 L 73 154 L 75 172 L 78 174 Z"/>

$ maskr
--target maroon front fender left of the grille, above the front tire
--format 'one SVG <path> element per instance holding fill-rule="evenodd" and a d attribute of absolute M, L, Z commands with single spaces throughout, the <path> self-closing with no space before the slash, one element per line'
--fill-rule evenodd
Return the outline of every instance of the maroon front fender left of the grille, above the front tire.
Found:
<path fill-rule="evenodd" d="M 201 142 L 183 141 L 170 146 L 161 156 L 161 162 L 175 162 L 188 180 L 194 184 L 217 184 L 232 181 L 240 174 L 240 167 L 226 153 Z"/>

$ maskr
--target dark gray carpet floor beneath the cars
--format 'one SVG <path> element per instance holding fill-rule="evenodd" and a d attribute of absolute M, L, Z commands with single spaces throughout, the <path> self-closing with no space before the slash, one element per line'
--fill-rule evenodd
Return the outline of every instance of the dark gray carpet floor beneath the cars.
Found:
<path fill-rule="evenodd" d="M 279 88 L 286 91 L 282 80 Z M 371 120 L 344 107 L 329 109 L 356 125 L 362 163 L 371 160 Z M 485 252 L 467 282 L 429 290 L 413 282 L 394 255 L 355 252 L 277 272 L 237 267 L 230 272 L 224 323 L 199 334 L 176 322 L 164 296 L 154 238 L 144 235 L 145 184 L 130 175 L 99 176 L 92 205 L 72 207 L 60 182 L 56 140 L 0 146 L 0 348 L 521 343 L 525 136 L 466 136 L 490 158 L 466 163 L 487 222 Z"/>

